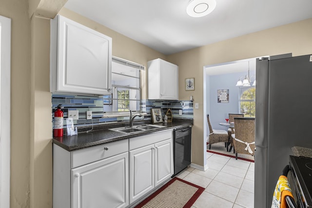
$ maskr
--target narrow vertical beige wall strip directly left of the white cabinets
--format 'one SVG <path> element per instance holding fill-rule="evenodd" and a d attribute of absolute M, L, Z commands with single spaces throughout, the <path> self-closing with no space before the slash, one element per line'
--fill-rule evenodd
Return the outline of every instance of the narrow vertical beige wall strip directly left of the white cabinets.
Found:
<path fill-rule="evenodd" d="M 30 207 L 52 207 L 50 20 L 31 19 Z M 50 108 L 48 108 L 50 106 Z"/>

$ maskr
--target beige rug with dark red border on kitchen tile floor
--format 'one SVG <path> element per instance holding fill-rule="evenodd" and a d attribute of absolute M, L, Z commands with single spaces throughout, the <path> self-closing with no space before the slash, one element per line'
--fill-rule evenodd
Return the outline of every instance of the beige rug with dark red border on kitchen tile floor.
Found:
<path fill-rule="evenodd" d="M 204 190 L 175 177 L 135 208 L 191 208 Z"/>

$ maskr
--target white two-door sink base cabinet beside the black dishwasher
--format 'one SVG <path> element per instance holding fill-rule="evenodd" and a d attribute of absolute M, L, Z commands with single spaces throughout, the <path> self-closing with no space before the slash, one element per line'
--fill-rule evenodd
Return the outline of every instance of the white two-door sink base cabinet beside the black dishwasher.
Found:
<path fill-rule="evenodd" d="M 133 138 L 137 144 L 151 140 L 166 140 L 130 151 L 130 204 L 171 178 L 173 174 L 171 135 L 172 132 L 168 131 Z M 132 139 L 129 143 L 131 148 Z"/>

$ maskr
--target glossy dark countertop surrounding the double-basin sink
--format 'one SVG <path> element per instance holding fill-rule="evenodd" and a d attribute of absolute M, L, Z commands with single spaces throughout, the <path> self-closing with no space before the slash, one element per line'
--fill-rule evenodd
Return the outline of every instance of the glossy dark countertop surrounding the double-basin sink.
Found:
<path fill-rule="evenodd" d="M 141 124 L 151 124 L 150 121 L 141 121 L 135 122 L 134 125 Z M 78 132 L 78 135 L 66 136 L 63 137 L 54 137 L 52 139 L 53 144 L 60 146 L 61 148 L 67 151 L 80 150 L 83 148 L 88 148 L 100 144 L 105 144 L 108 142 L 114 142 L 122 139 L 133 138 L 141 135 L 146 135 L 153 132 L 160 132 L 168 129 L 177 129 L 181 127 L 190 126 L 193 124 L 193 119 L 173 119 L 173 122 L 167 124 L 160 123 L 154 125 L 164 126 L 163 128 L 153 129 L 148 131 L 140 131 L 136 133 L 122 133 L 115 132 L 109 129 L 117 127 L 126 127 L 129 126 L 129 122 L 120 122 L 113 124 L 103 124 L 94 126 L 94 130 L 91 132 Z M 90 129 L 90 128 L 89 128 Z M 88 130 L 89 130 L 88 129 Z"/>

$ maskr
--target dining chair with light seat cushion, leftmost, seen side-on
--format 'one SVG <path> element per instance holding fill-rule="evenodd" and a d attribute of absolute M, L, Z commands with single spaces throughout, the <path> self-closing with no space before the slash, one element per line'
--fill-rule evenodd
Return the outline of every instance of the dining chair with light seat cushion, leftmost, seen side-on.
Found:
<path fill-rule="evenodd" d="M 225 130 L 215 130 L 211 127 L 209 114 L 207 114 L 207 121 L 209 126 L 209 150 L 211 149 L 211 145 L 219 142 L 224 142 L 226 151 L 229 150 L 229 135 Z"/>

